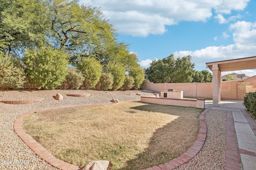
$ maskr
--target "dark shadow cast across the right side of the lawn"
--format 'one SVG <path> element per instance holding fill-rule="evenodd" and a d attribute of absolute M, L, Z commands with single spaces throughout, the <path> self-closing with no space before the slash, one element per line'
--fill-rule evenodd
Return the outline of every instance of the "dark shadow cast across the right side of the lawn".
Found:
<path fill-rule="evenodd" d="M 165 110 L 161 111 L 159 108 L 161 106 L 155 104 L 132 107 L 132 109 L 161 112 L 179 117 L 157 129 L 144 152 L 140 152 L 136 158 L 126 161 L 127 166 L 119 170 L 139 170 L 157 166 L 180 156 L 194 143 L 199 130 L 198 118 L 201 110 L 192 109 L 195 113 L 187 115 L 188 109 L 191 108 L 162 106 Z M 182 113 L 178 113 L 180 111 Z"/>

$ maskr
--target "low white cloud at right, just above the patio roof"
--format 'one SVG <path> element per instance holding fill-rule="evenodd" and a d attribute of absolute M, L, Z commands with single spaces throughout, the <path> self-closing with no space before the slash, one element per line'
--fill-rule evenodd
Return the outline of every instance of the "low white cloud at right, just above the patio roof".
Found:
<path fill-rule="evenodd" d="M 229 59 L 239 59 L 255 56 L 256 49 L 256 22 L 238 21 L 230 24 L 234 31 L 234 44 L 227 46 L 210 46 L 196 51 L 176 51 L 174 57 L 192 56 L 196 66 L 204 67 L 205 63 Z M 255 71 L 251 72 L 255 74 Z"/>

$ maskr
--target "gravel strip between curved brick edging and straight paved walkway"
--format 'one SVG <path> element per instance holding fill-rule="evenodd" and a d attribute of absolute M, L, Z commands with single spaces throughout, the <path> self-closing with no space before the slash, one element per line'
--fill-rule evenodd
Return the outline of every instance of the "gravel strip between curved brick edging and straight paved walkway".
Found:
<path fill-rule="evenodd" d="M 202 150 L 176 170 L 224 170 L 226 151 L 226 111 L 211 109 L 206 113 L 207 136 Z"/>

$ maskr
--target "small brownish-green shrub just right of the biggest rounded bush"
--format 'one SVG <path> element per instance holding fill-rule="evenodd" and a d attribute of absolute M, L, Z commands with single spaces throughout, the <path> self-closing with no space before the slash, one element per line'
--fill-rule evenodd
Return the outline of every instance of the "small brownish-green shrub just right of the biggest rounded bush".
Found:
<path fill-rule="evenodd" d="M 75 67 L 68 67 L 68 75 L 66 76 L 68 88 L 78 89 L 84 82 L 84 75 Z"/>

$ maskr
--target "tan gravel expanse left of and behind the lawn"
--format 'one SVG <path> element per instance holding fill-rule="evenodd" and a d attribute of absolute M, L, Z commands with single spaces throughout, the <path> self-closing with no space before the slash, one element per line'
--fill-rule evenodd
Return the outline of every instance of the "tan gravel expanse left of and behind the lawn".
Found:
<path fill-rule="evenodd" d="M 54 96 L 57 93 L 62 94 L 64 100 L 55 100 Z M 87 98 L 66 96 L 66 94 L 88 93 L 91 94 L 91 96 Z M 119 101 L 140 99 L 140 96 L 137 96 L 136 93 L 141 93 L 142 96 L 153 96 L 152 93 L 138 90 L 113 92 L 95 90 L 0 90 L 0 101 L 45 98 L 43 101 L 34 104 L 14 105 L 0 102 L 0 170 L 56 169 L 36 156 L 14 132 L 14 121 L 16 117 L 22 113 L 45 107 L 109 103 L 112 98 L 118 98 Z"/>

